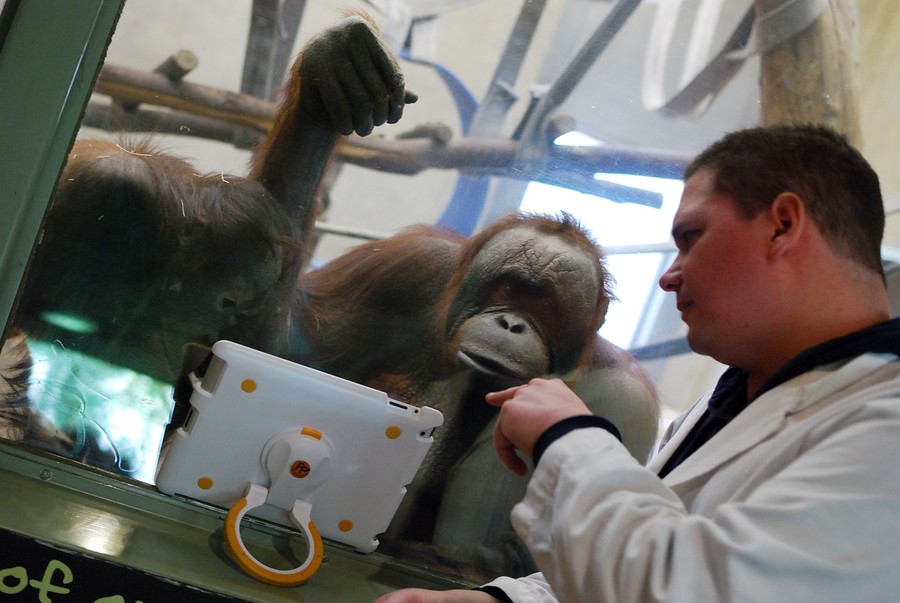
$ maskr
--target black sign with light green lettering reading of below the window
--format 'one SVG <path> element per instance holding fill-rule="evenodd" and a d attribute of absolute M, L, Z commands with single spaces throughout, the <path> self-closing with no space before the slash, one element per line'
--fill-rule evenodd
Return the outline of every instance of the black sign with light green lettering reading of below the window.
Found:
<path fill-rule="evenodd" d="M 240 601 L 0 529 L 0 601 Z"/>

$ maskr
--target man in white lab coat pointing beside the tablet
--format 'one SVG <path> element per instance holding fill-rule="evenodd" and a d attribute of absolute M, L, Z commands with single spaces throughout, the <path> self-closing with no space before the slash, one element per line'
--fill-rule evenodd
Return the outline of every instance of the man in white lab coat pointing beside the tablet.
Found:
<path fill-rule="evenodd" d="M 513 523 L 541 574 L 381 603 L 897 600 L 900 323 L 878 178 L 829 130 L 726 136 L 686 171 L 660 279 L 731 366 L 647 467 L 556 381 L 488 396 L 535 473 Z"/>

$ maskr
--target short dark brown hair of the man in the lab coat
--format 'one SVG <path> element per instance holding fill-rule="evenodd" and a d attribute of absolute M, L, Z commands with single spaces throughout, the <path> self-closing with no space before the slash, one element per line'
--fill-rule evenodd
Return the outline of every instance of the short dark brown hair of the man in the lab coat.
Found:
<path fill-rule="evenodd" d="M 878 175 L 847 140 L 816 125 L 763 126 L 732 132 L 688 165 L 704 168 L 714 187 L 747 218 L 784 192 L 798 195 L 825 240 L 844 257 L 882 273 L 884 205 Z"/>

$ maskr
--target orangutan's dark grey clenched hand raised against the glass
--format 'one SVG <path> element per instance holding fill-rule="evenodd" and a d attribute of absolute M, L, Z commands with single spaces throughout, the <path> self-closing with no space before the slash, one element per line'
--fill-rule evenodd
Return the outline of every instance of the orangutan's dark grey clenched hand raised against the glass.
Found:
<path fill-rule="evenodd" d="M 300 60 L 303 109 L 331 121 L 341 134 L 366 136 L 375 126 L 396 123 L 415 94 L 373 25 L 360 16 L 344 19 L 315 36 Z"/>

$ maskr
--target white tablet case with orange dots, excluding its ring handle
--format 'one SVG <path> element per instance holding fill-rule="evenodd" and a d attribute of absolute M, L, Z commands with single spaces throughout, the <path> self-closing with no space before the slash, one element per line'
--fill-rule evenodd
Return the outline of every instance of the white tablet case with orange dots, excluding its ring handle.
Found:
<path fill-rule="evenodd" d="M 192 376 L 191 413 L 167 450 L 157 487 L 227 508 L 258 484 L 269 489 L 269 502 L 308 502 L 322 536 L 375 550 L 441 413 L 230 341 L 212 351 L 202 380 Z M 298 455 L 312 470 L 292 479 L 281 463 Z M 290 502 L 248 513 L 292 525 Z"/>

